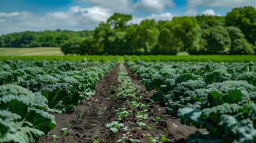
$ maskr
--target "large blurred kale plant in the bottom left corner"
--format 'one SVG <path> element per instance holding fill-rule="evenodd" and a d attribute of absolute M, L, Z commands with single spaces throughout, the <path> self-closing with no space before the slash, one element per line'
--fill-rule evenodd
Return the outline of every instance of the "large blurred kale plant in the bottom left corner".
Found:
<path fill-rule="evenodd" d="M 36 142 L 54 129 L 54 116 L 44 111 L 47 100 L 17 85 L 0 86 L 0 141 Z"/>

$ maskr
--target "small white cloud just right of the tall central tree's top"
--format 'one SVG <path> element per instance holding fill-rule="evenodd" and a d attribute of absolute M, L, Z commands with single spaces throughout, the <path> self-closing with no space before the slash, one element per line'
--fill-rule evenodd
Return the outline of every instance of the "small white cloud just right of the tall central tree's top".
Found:
<path fill-rule="evenodd" d="M 159 20 L 172 20 L 172 18 L 174 17 L 173 14 L 171 13 L 162 13 L 162 14 L 152 14 L 148 17 L 141 17 L 141 18 L 136 18 L 134 17 L 130 23 L 134 23 L 134 24 L 140 24 L 141 21 L 146 20 L 146 19 L 155 19 L 156 21 Z"/>

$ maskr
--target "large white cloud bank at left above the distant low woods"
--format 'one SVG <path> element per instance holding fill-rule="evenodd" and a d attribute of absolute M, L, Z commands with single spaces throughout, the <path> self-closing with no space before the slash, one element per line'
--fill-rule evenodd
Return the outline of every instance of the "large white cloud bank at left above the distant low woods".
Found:
<path fill-rule="evenodd" d="M 71 7 L 66 12 L 49 13 L 43 17 L 35 17 L 29 12 L 0 13 L 0 35 L 26 30 L 93 30 L 110 15 L 109 10 L 99 7 Z"/>

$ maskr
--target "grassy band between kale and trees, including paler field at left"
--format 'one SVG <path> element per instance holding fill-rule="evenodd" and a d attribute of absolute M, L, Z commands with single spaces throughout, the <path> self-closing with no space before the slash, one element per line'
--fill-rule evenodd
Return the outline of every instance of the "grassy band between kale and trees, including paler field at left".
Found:
<path fill-rule="evenodd" d="M 256 61 L 256 55 L 188 55 L 187 52 L 180 52 L 177 55 L 67 55 L 65 56 L 60 48 L 39 47 L 39 48 L 0 48 L 0 60 L 91 60 L 110 61 L 116 60 L 143 60 L 143 61 Z"/>

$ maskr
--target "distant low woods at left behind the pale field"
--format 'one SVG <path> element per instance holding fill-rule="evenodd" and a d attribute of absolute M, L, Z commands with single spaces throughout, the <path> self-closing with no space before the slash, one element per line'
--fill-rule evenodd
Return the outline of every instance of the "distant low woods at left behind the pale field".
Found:
<path fill-rule="evenodd" d="M 40 46 L 60 47 L 64 41 L 82 39 L 92 35 L 92 30 L 45 30 L 44 32 L 20 32 L 0 36 L 0 47 L 30 48 Z"/>

